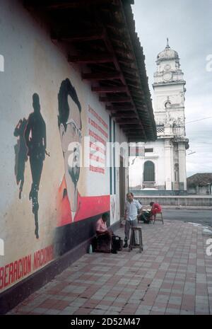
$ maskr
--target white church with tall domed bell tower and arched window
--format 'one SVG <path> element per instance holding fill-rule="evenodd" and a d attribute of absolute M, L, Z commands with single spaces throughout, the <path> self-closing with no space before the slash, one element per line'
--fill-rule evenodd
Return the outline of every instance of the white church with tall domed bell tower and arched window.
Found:
<path fill-rule="evenodd" d="M 179 194 L 179 191 L 187 190 L 186 82 L 180 69 L 179 55 L 170 48 L 168 40 L 165 50 L 158 54 L 156 64 L 153 108 L 157 140 L 143 144 L 143 156 L 131 159 L 129 186 L 131 190 L 143 190 L 143 193 L 154 190 Z"/>

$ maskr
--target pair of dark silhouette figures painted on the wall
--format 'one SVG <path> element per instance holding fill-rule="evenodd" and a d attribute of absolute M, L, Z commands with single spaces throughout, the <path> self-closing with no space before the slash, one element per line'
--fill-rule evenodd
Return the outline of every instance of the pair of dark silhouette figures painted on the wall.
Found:
<path fill-rule="evenodd" d="M 15 149 L 15 175 L 19 187 L 19 199 L 23 191 L 25 162 L 30 158 L 30 169 L 33 183 L 29 194 L 29 199 L 32 200 L 32 211 L 35 217 L 35 236 L 39 238 L 38 226 L 38 191 L 40 186 L 40 178 L 42 174 L 43 161 L 47 154 L 47 137 L 45 120 L 40 113 L 40 98 L 37 93 L 33 94 L 33 109 L 28 120 L 23 118 L 16 125 L 14 136 L 18 137 Z M 47 154 L 49 156 L 49 154 Z"/>

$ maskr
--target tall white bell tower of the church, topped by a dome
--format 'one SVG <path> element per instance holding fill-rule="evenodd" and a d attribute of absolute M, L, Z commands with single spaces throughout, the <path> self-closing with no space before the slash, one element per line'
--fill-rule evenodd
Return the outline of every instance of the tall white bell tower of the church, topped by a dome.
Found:
<path fill-rule="evenodd" d="M 156 60 L 154 74 L 154 115 L 158 140 L 165 147 L 165 190 L 187 190 L 184 74 L 179 55 L 170 48 L 168 39 Z"/>

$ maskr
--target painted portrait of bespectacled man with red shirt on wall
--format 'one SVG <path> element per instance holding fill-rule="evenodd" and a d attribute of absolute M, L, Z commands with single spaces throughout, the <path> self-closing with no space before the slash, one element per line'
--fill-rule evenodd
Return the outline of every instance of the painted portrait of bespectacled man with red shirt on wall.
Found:
<path fill-rule="evenodd" d="M 71 81 L 61 82 L 58 94 L 58 127 L 64 156 L 64 178 L 57 195 L 57 226 L 88 219 L 110 209 L 110 195 L 81 196 L 81 103 Z"/>

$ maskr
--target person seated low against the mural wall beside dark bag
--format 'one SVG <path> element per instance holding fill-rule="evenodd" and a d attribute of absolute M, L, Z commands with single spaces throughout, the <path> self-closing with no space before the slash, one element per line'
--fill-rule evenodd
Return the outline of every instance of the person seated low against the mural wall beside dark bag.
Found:
<path fill-rule="evenodd" d="M 100 245 L 102 245 L 102 251 L 109 252 L 108 246 L 112 246 L 112 236 L 114 233 L 111 230 L 107 229 L 106 221 L 109 219 L 110 215 L 105 212 L 102 214 L 102 218 L 98 219 L 96 223 L 96 234 L 97 234 L 97 241 Z M 113 246 L 111 249 L 112 253 L 117 253 L 117 250 L 114 250 Z"/>

